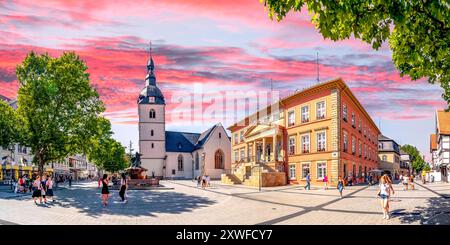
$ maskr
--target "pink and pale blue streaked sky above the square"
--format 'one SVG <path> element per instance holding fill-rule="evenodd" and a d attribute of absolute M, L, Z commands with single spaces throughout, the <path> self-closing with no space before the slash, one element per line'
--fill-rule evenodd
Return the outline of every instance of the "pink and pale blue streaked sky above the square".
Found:
<path fill-rule="evenodd" d="M 136 99 L 144 87 L 148 43 L 153 43 L 157 84 L 166 97 L 192 91 L 264 91 L 287 95 L 320 80 L 342 77 L 381 131 L 429 156 L 434 113 L 445 107 L 442 90 L 426 80 L 401 78 L 388 45 L 324 40 L 306 11 L 271 21 L 258 0 L 9 1 L 0 0 L 0 94 L 14 98 L 15 67 L 35 50 L 58 56 L 76 51 L 106 104 L 115 138 L 137 148 Z M 168 130 L 201 132 L 217 122 Z M 228 126 L 228 125 L 225 125 Z M 429 157 L 428 157 L 429 159 Z"/>

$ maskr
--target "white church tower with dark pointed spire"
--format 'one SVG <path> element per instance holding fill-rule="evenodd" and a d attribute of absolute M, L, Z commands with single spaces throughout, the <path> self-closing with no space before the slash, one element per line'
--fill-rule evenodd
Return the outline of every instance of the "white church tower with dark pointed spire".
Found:
<path fill-rule="evenodd" d="M 147 63 L 145 88 L 138 98 L 139 114 L 139 151 L 142 154 L 142 167 L 148 169 L 147 175 L 154 173 L 164 176 L 164 160 L 166 157 L 165 142 L 165 106 L 164 96 L 156 86 L 155 63 L 150 46 Z"/>

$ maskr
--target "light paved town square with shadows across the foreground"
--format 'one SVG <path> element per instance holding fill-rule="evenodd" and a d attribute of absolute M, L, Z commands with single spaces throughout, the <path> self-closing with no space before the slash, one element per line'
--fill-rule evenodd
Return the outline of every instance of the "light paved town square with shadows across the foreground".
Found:
<path fill-rule="evenodd" d="M 383 220 L 376 186 L 335 189 L 301 186 L 263 188 L 213 182 L 202 190 L 192 181 L 162 181 L 166 188 L 132 190 L 129 202 L 111 191 L 101 207 L 97 183 L 76 183 L 55 192 L 55 203 L 35 205 L 30 195 L 0 188 L 0 224 L 450 224 L 450 184 L 416 184 L 392 198 Z"/>

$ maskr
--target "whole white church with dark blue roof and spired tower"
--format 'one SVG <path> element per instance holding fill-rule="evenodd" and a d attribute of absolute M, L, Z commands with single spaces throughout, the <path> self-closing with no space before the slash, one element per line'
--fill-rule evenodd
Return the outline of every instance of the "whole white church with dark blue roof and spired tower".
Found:
<path fill-rule="evenodd" d="M 145 88 L 139 94 L 139 151 L 147 175 L 192 179 L 208 175 L 220 179 L 231 169 L 231 142 L 222 124 L 205 132 L 166 131 L 166 102 L 156 86 L 155 64 L 150 53 Z"/>

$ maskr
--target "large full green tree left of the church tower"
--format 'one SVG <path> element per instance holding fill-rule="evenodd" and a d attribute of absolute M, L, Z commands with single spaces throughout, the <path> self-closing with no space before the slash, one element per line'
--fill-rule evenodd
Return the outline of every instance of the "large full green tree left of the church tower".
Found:
<path fill-rule="evenodd" d="M 99 134 L 105 108 L 86 70 L 74 52 L 59 58 L 30 52 L 16 68 L 22 142 L 31 147 L 41 175 L 46 163 L 86 152 L 86 143 Z"/>

